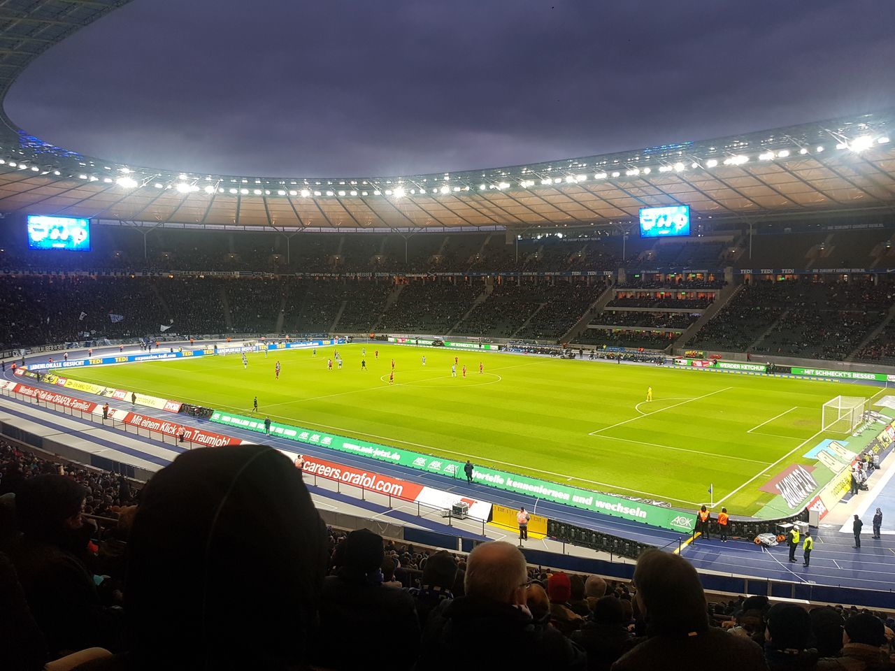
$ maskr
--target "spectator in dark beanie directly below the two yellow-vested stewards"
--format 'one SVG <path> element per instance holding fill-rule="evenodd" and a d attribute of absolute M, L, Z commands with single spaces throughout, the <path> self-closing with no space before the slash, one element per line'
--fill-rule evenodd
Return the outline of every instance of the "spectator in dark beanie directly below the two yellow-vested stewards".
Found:
<path fill-rule="evenodd" d="M 778 603 L 771 606 L 764 631 L 764 659 L 771 671 L 814 669 L 817 650 L 811 648 L 814 634 L 811 617 L 801 606 Z"/>

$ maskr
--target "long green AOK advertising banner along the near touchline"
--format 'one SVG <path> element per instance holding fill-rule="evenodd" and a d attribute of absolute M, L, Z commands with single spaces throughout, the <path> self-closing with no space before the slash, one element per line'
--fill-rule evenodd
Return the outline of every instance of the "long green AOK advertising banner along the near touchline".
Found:
<path fill-rule="evenodd" d="M 257 418 L 215 411 L 210 419 L 218 424 L 264 433 L 264 422 Z M 289 438 L 305 444 L 324 446 L 348 454 L 360 454 L 371 459 L 397 463 L 418 471 L 438 473 L 449 478 L 460 477 L 463 473 L 464 464 L 461 462 L 377 443 L 368 443 L 364 440 L 337 436 L 323 431 L 303 429 L 289 424 L 271 422 L 270 435 Z M 621 517 L 634 522 L 652 524 L 653 526 L 672 531 L 688 533 L 693 531 L 695 526 L 695 514 L 681 513 L 660 505 L 632 501 L 624 497 L 613 497 L 609 494 L 591 491 L 590 489 L 560 485 L 549 480 L 537 480 L 507 471 L 497 471 L 476 466 L 473 471 L 473 481 L 478 484 L 513 492 L 519 496 L 540 498 L 558 504 L 572 505 L 584 510 Z"/>

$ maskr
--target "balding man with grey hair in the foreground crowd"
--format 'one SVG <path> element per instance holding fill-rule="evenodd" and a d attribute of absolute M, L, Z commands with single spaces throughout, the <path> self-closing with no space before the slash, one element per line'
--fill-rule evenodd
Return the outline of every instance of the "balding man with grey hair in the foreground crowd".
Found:
<path fill-rule="evenodd" d="M 528 572 L 519 548 L 482 543 L 466 561 L 465 596 L 432 611 L 417 669 L 453 671 L 463 650 L 466 671 L 498 666 L 586 668 L 584 651 L 525 606 Z"/>

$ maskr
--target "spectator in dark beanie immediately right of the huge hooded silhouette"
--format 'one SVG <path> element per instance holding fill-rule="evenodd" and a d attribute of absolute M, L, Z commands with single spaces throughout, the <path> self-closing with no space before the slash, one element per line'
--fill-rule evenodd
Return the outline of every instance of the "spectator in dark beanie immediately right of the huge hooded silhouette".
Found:
<path fill-rule="evenodd" d="M 400 645 L 389 647 L 388 667 L 410 669 L 419 647 L 420 620 L 410 594 L 382 584 L 382 537 L 358 529 L 343 546 L 336 574 L 323 581 L 311 661 L 334 671 L 369 668 L 371 653 L 388 640 L 388 631 L 400 635 Z"/>

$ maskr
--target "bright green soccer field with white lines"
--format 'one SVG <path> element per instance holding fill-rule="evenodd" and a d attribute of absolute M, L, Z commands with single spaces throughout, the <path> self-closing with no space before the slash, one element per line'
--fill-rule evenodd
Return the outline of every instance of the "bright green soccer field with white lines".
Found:
<path fill-rule="evenodd" d="M 433 347 L 338 351 L 344 368 L 331 371 L 328 347 L 316 357 L 251 352 L 248 369 L 230 354 L 85 368 L 75 377 L 246 414 L 257 395 L 260 416 L 273 420 L 672 505 L 709 503 L 712 485 L 715 504 L 732 514 L 754 514 L 771 499 L 759 489 L 767 480 L 790 463 L 808 463 L 802 455 L 823 437 L 842 437 L 819 432 L 823 403 L 879 391 Z M 389 386 L 392 358 L 396 384 Z"/>

